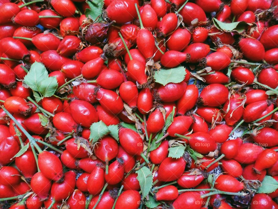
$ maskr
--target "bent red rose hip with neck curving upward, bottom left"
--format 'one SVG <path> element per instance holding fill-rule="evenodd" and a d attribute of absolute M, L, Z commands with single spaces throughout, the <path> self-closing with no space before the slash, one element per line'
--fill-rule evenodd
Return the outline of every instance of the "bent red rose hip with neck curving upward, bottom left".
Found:
<path fill-rule="evenodd" d="M 54 182 L 51 186 L 51 196 L 56 201 L 62 201 L 72 194 L 75 188 L 76 175 L 74 171 L 65 172 L 64 181 L 61 183 Z"/>

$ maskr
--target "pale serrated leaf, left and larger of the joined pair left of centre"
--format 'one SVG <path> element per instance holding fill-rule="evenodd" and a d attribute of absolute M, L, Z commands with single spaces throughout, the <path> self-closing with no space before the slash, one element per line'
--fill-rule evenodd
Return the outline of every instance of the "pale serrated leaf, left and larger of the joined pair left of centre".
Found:
<path fill-rule="evenodd" d="M 95 122 L 90 127 L 90 142 L 96 143 L 100 138 L 109 134 L 109 129 L 102 120 Z"/>

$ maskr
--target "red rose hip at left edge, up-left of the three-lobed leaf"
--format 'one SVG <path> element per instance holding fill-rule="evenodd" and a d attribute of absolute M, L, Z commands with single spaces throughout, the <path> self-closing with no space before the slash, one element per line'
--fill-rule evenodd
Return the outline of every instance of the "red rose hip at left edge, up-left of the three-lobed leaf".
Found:
<path fill-rule="evenodd" d="M 12 59 L 16 60 L 26 60 L 29 59 L 29 51 L 26 46 L 20 42 L 18 39 L 13 38 L 3 38 L 0 42 L 1 51 Z"/>

